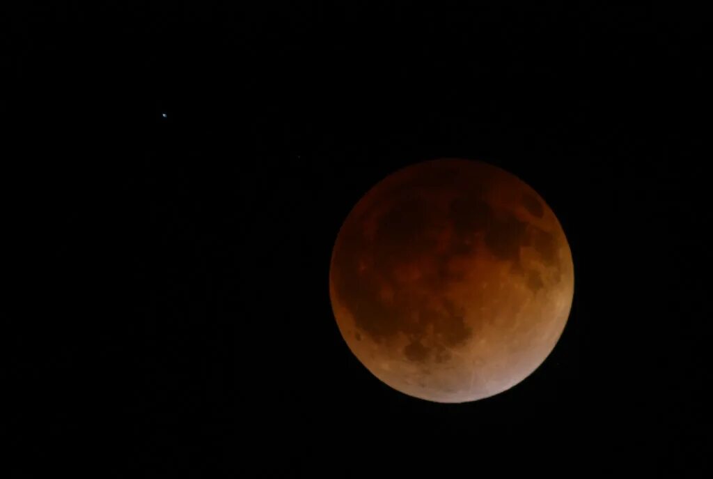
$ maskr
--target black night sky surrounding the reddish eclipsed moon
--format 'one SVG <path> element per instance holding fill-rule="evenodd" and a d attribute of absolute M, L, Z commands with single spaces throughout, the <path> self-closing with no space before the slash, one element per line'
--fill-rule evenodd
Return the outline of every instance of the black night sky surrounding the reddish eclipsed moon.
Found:
<path fill-rule="evenodd" d="M 707 477 L 704 17 L 410 3 L 9 10 L 10 477 Z M 555 351 L 461 405 L 329 302 L 354 203 L 439 157 L 533 186 L 575 264 Z"/>

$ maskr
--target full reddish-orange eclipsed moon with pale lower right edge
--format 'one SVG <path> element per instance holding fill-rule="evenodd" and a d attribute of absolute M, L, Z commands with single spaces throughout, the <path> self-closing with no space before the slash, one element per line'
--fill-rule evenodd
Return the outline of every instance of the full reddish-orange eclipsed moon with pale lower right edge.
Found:
<path fill-rule="evenodd" d="M 481 161 L 407 166 L 339 229 L 329 296 L 354 356 L 401 393 L 488 398 L 553 351 L 574 294 L 572 253 L 533 188 Z"/>

